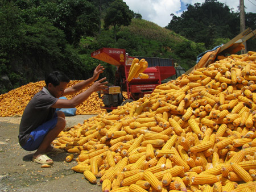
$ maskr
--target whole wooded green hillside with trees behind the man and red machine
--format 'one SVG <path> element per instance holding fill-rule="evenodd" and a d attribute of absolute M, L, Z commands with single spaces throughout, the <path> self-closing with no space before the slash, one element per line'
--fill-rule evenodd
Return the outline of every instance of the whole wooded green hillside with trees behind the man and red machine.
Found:
<path fill-rule="evenodd" d="M 62 70 L 72 80 L 87 79 L 98 64 L 105 68 L 100 78 L 113 84 L 116 67 L 90 57 L 102 47 L 123 48 L 130 56 L 176 59 L 189 69 L 199 53 L 240 33 L 239 15 L 216 0 L 188 5 L 180 17 L 173 15 L 167 28 L 142 19 L 122 0 L 17 0 L 0 5 L 0 76 L 7 75 L 13 87 L 44 80 L 52 70 Z M 255 14 L 246 15 L 246 24 L 255 29 Z M 247 46 L 255 48 L 255 41 Z"/>

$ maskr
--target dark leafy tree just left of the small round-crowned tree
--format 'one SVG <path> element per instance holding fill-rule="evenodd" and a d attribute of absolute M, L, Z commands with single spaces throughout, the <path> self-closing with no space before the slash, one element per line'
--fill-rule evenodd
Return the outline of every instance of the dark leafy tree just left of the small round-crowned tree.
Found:
<path fill-rule="evenodd" d="M 96 7 L 86 0 L 63 0 L 56 7 L 53 22 L 64 31 L 69 44 L 77 45 L 81 36 L 96 34 L 100 16 Z"/>

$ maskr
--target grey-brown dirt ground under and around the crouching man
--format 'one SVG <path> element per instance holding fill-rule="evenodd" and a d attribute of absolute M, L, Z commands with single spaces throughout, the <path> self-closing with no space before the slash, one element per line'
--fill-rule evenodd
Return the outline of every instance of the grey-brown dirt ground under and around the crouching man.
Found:
<path fill-rule="evenodd" d="M 66 117 L 67 126 L 83 123 L 94 115 Z M 49 155 L 54 161 L 51 168 L 41 168 L 32 162 L 32 154 L 22 149 L 18 143 L 20 117 L 0 117 L 0 190 L 1 191 L 101 191 L 92 185 L 82 173 L 71 168 L 76 161 L 65 162 L 68 153 Z M 76 157 L 76 155 L 75 155 Z"/>

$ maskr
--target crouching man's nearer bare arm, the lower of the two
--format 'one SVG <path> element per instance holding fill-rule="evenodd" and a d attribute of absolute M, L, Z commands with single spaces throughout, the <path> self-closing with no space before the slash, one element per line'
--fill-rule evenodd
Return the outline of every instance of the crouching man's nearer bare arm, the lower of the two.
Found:
<path fill-rule="evenodd" d="M 58 99 L 55 104 L 53 104 L 51 107 L 53 108 L 73 108 L 81 104 L 85 101 L 93 92 L 99 91 L 104 89 L 106 84 L 108 84 L 108 81 L 102 82 L 106 80 L 106 77 L 102 78 L 99 81 L 94 82 L 92 86 L 90 86 L 88 89 L 86 89 L 84 92 L 76 95 L 72 99 Z"/>

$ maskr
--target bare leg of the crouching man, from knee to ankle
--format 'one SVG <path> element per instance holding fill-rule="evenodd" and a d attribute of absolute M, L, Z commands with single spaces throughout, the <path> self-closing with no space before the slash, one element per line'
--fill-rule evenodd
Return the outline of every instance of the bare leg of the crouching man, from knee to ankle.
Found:
<path fill-rule="evenodd" d="M 62 111 L 57 111 L 57 123 L 56 126 L 50 130 L 44 137 L 44 140 L 39 145 L 38 150 L 34 153 L 33 158 L 39 157 L 52 150 L 51 143 L 64 130 L 66 125 L 65 115 Z"/>

